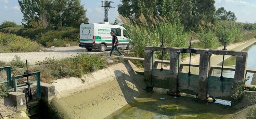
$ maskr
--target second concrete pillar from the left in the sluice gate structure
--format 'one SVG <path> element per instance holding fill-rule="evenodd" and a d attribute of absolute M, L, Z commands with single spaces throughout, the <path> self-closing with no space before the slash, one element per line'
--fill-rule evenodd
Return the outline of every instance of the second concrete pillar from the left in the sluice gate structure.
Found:
<path fill-rule="evenodd" d="M 170 95 L 178 95 L 178 62 L 180 53 L 170 51 L 170 87 L 167 92 Z M 179 58 L 179 59 L 178 59 Z"/>

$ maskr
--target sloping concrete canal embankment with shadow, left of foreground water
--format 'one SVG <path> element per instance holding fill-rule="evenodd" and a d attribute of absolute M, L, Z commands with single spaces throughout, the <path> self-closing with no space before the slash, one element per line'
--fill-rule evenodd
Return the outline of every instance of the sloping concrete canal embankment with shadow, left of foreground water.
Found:
<path fill-rule="evenodd" d="M 143 75 L 130 61 L 95 71 L 83 78 L 54 81 L 50 107 L 60 118 L 105 118 L 145 93 Z"/>

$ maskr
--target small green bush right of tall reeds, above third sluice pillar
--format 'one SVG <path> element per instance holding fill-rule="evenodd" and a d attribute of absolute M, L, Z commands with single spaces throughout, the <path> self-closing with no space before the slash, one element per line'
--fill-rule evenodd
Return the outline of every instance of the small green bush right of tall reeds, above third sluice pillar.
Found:
<path fill-rule="evenodd" d="M 200 33 L 199 36 L 200 48 L 215 49 L 220 46 L 215 34 L 212 32 Z"/>

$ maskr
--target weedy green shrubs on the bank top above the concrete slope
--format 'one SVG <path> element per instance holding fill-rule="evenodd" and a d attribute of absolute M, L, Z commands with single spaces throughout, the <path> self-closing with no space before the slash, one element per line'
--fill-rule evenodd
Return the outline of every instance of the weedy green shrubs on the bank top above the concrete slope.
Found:
<path fill-rule="evenodd" d="M 106 68 L 105 58 L 96 54 L 78 53 L 72 58 L 57 60 L 54 57 L 46 58 L 34 71 L 41 72 L 43 82 L 51 82 L 55 78 L 61 77 L 82 77 L 83 74 Z"/>

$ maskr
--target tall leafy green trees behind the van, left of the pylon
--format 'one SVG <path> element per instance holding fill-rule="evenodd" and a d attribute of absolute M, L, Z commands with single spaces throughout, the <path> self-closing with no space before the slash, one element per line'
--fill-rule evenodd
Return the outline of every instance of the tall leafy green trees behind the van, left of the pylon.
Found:
<path fill-rule="evenodd" d="M 44 22 L 57 27 L 79 27 L 87 22 L 86 10 L 80 0 L 18 0 L 23 13 L 23 25 L 31 27 L 31 22 L 42 20 L 40 15 L 46 16 Z"/>

